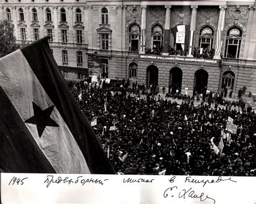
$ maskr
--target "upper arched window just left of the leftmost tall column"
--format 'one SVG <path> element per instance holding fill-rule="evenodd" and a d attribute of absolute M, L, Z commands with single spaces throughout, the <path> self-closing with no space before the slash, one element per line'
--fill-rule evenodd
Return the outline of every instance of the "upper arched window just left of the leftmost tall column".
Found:
<path fill-rule="evenodd" d="M 140 45 L 140 28 L 133 24 L 129 27 L 129 51 L 138 52 Z"/>

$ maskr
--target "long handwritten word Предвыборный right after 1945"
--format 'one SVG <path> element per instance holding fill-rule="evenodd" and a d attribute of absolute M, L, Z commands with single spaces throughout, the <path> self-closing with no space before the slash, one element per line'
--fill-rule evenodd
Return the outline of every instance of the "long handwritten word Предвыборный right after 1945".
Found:
<path fill-rule="evenodd" d="M 70 179 L 69 177 L 58 177 L 58 178 L 54 178 L 53 175 L 47 175 L 47 178 L 44 181 L 44 184 L 46 183 L 46 188 L 48 188 L 50 186 L 50 184 L 82 184 L 85 185 L 86 183 L 94 183 L 94 184 L 100 184 L 103 185 L 104 181 L 107 181 L 109 179 L 104 179 L 104 180 L 100 180 L 100 179 L 86 179 L 83 176 L 77 177 L 76 180 Z"/>

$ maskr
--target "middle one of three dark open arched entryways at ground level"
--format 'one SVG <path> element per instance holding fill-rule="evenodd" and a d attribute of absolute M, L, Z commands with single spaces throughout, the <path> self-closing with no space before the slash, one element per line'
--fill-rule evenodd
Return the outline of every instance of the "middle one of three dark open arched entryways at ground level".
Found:
<path fill-rule="evenodd" d="M 182 85 L 182 71 L 178 67 L 173 67 L 170 70 L 170 82 L 169 86 L 171 88 L 171 93 L 176 93 L 176 90 L 179 90 L 179 93 L 181 92 L 181 85 Z"/>

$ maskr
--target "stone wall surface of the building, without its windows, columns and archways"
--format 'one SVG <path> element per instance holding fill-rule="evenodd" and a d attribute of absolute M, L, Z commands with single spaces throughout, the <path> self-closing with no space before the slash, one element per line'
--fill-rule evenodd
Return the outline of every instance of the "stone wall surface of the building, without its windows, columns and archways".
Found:
<path fill-rule="evenodd" d="M 53 42 L 50 46 L 53 55 L 60 66 L 76 67 L 88 69 L 93 73 L 92 61 L 87 54 L 97 55 L 99 58 L 107 59 L 109 66 L 109 78 L 123 79 L 129 77 L 129 65 L 136 62 L 138 65 L 137 78 L 138 83 L 147 82 L 147 67 L 155 65 L 158 68 L 158 82 L 160 87 L 168 87 L 170 82 L 170 70 L 173 67 L 179 67 L 183 72 L 182 87 L 193 90 L 195 84 L 195 73 L 198 69 L 204 69 L 208 73 L 207 89 L 217 92 L 221 88 L 222 75 L 225 71 L 232 71 L 235 74 L 234 95 L 238 90 L 246 86 L 246 94 L 252 92 L 256 95 L 256 12 L 255 2 L 174 2 L 174 1 L 85 1 L 85 0 L 1 0 L 0 18 L 6 19 L 6 9 L 11 10 L 12 21 L 15 26 L 15 35 L 18 43 L 31 43 L 33 41 L 33 28 L 39 29 L 39 37 L 46 35 L 46 29 L 53 29 Z M 140 54 L 129 52 L 129 26 L 136 23 L 140 28 L 142 26 L 142 6 L 146 6 L 146 44 L 151 46 L 151 27 L 160 24 L 165 29 L 166 8 L 170 9 L 170 29 L 179 24 L 191 25 L 193 19 L 191 6 L 196 6 L 196 29 L 194 32 L 194 41 L 192 47 L 199 46 L 199 33 L 203 26 L 211 26 L 214 30 L 213 48 L 215 48 L 216 35 L 220 24 L 220 6 L 224 6 L 225 19 L 224 29 L 221 31 L 223 45 L 221 54 L 224 55 L 225 41 L 228 29 L 238 26 L 242 30 L 240 54 L 237 59 L 223 58 L 219 65 L 219 59 L 216 63 L 191 62 L 181 60 L 147 59 L 140 57 Z M 24 10 L 24 22 L 19 22 L 18 9 Z M 32 22 L 32 9 L 36 8 L 38 13 L 38 22 Z M 45 9 L 49 8 L 52 12 L 52 22 L 46 22 Z M 66 23 L 60 23 L 60 9 L 66 10 Z M 82 11 L 82 23 L 75 23 L 76 9 Z M 103 8 L 108 10 L 109 23 L 102 24 L 101 11 Z M 134 10 L 135 9 L 135 10 Z M 27 39 L 21 40 L 21 27 L 26 29 Z M 62 43 L 61 29 L 68 30 L 68 43 Z M 76 30 L 82 30 L 83 43 L 77 45 Z M 100 48 L 100 33 L 109 34 L 109 49 Z M 164 33 L 165 34 L 165 33 Z M 174 38 L 170 30 L 169 45 L 174 47 Z M 68 51 L 68 64 L 63 64 L 62 50 Z M 83 65 L 77 65 L 76 52 L 83 52 Z M 100 68 L 99 68 L 100 69 Z M 99 70 L 99 72 L 102 72 Z M 90 74 L 91 76 L 91 74 Z M 77 79 L 77 73 L 70 72 L 69 79 Z M 83 76 L 84 79 L 84 76 Z"/>

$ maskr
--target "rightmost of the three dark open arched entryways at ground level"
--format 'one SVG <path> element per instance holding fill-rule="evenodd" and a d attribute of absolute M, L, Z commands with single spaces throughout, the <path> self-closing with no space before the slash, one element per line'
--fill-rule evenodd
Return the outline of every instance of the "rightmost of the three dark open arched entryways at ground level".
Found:
<path fill-rule="evenodd" d="M 208 83 L 208 73 L 204 69 L 199 69 L 194 74 L 194 94 L 206 94 Z"/>

